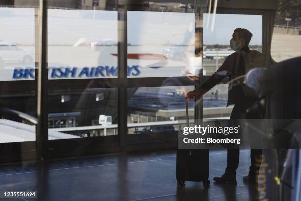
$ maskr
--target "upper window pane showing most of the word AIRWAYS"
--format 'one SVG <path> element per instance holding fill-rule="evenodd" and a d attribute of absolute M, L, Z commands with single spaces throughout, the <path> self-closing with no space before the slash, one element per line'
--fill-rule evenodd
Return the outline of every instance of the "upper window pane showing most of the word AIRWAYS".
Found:
<path fill-rule="evenodd" d="M 117 11 L 48 9 L 48 79 L 117 74 Z"/>

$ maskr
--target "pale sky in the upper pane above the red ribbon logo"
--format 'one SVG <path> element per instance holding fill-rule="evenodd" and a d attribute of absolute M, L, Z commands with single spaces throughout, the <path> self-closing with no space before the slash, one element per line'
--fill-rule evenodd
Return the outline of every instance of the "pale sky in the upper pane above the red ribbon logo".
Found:
<path fill-rule="evenodd" d="M 131 44 L 194 44 L 194 13 L 140 12 L 127 14 Z"/>

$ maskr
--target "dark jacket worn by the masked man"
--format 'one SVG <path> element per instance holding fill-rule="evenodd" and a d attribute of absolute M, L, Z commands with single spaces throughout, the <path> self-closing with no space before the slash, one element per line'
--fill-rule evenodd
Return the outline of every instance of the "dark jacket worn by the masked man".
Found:
<path fill-rule="evenodd" d="M 241 51 L 249 53 L 251 50 L 248 47 L 243 47 L 241 48 Z M 244 74 L 243 56 L 239 52 L 234 52 L 226 58 L 221 67 L 219 67 L 219 69 L 199 88 L 209 91 L 227 76 L 229 76 L 230 79 L 234 79 Z M 232 87 L 229 85 L 227 106 L 232 104 L 238 106 L 250 106 L 255 100 L 255 98 L 244 95 L 241 85 Z"/>

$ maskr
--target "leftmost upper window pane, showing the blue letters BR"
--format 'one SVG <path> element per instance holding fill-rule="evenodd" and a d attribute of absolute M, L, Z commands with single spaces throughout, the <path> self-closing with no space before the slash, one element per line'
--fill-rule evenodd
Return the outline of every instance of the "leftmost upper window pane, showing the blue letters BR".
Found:
<path fill-rule="evenodd" d="M 33 80 L 37 8 L 0 8 L 0 81 Z"/>

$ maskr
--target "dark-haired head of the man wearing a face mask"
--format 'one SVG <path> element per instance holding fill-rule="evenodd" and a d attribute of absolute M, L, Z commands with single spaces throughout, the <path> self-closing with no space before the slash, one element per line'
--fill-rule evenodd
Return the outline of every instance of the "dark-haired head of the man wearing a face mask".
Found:
<path fill-rule="evenodd" d="M 241 49 L 242 47 L 247 47 L 251 41 L 253 34 L 243 28 L 236 28 L 233 31 L 232 39 L 230 40 L 230 47 L 233 50 Z"/>

